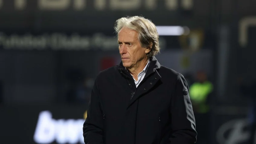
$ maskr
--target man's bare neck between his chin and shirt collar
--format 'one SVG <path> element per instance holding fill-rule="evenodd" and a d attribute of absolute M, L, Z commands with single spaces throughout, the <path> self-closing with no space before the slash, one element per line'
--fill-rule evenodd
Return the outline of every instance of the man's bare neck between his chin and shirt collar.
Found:
<path fill-rule="evenodd" d="M 149 59 L 146 57 L 143 60 L 139 61 L 134 67 L 128 68 L 130 74 L 135 80 L 138 80 L 138 74 L 146 67 Z"/>

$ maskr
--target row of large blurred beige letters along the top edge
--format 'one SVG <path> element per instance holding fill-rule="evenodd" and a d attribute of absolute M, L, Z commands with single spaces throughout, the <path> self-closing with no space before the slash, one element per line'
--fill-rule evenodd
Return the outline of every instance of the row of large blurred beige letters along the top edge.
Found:
<path fill-rule="evenodd" d="M 15 10 L 24 10 L 28 6 L 28 0 L 8 0 L 13 1 Z M 88 7 L 93 7 L 95 10 L 138 10 L 145 8 L 147 10 L 155 10 L 159 0 L 37 0 L 37 8 L 43 11 L 64 11 L 73 9 L 81 11 Z M 167 10 L 177 10 L 180 8 L 190 10 L 193 8 L 194 0 L 162 0 L 165 3 Z M 6 0 L 0 0 L 0 8 L 5 6 Z M 10 3 L 10 2 L 8 2 Z"/>

